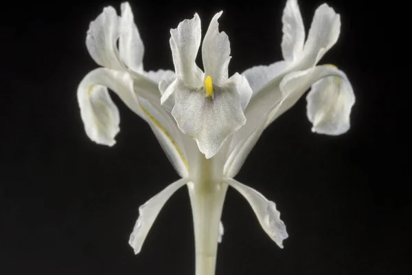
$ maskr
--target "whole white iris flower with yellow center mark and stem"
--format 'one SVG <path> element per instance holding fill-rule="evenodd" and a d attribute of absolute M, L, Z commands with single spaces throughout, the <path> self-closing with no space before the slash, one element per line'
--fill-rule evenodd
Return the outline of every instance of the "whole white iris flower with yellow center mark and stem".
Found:
<path fill-rule="evenodd" d="M 108 94 L 111 89 L 148 122 L 181 176 L 139 208 L 129 241 L 135 253 L 165 202 L 183 185 L 192 203 L 196 275 L 214 274 L 228 186 L 247 199 L 264 231 L 283 248 L 288 234 L 275 203 L 233 177 L 264 129 L 310 87 L 306 99 L 312 131 L 339 135 L 350 128 L 355 98 L 349 80 L 332 65 L 317 66 L 338 39 L 339 14 L 326 4 L 319 6 L 305 42 L 297 1 L 288 0 L 282 18 L 284 61 L 229 78 L 229 39 L 218 31 L 222 12 L 211 19 L 203 39 L 205 72 L 195 63 L 201 46 L 198 14 L 170 30 L 175 72 L 145 72 L 144 45 L 128 3 L 122 3 L 121 10 L 118 16 L 114 8 L 104 8 L 87 32 L 87 49 L 102 67 L 87 74 L 78 87 L 84 128 L 94 142 L 115 144 L 119 111 Z"/>

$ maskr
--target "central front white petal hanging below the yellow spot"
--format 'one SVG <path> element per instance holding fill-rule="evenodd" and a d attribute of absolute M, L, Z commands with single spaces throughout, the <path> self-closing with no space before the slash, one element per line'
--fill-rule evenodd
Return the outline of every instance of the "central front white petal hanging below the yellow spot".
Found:
<path fill-rule="evenodd" d="M 214 87 L 212 98 L 205 97 L 203 87 L 193 89 L 179 79 L 170 87 L 175 96 L 172 115 L 179 129 L 194 137 L 207 159 L 216 155 L 227 137 L 246 122 L 240 94 L 233 81 Z"/>

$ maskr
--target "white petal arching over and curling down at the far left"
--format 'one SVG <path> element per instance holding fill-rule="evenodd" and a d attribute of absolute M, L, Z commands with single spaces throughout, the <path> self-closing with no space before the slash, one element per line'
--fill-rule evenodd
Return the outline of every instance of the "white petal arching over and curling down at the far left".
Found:
<path fill-rule="evenodd" d="M 84 129 L 94 142 L 113 146 L 115 135 L 119 132 L 119 111 L 106 87 L 113 90 L 135 113 L 142 114 L 130 74 L 99 68 L 83 78 L 77 96 Z"/>

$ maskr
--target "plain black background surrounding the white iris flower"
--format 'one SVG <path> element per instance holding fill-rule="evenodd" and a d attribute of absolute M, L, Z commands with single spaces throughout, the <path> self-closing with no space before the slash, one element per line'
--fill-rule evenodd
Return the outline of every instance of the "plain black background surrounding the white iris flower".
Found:
<path fill-rule="evenodd" d="M 137 208 L 178 179 L 150 128 L 115 94 L 121 131 L 113 148 L 91 142 L 80 120 L 78 83 L 98 67 L 84 44 L 89 22 L 106 5 L 119 11 L 120 1 L 56 2 L 2 8 L 0 274 L 194 274 L 185 188 L 160 212 L 141 253 L 128 245 Z M 307 31 L 323 2 L 299 1 Z M 224 10 L 229 74 L 282 58 L 285 3 L 130 2 L 146 70 L 173 69 L 170 28 L 198 12 L 205 32 Z M 407 8 L 327 3 L 342 28 L 321 63 L 352 82 L 352 128 L 339 137 L 311 133 L 303 98 L 265 131 L 236 179 L 275 201 L 289 238 L 279 249 L 229 189 L 217 275 L 410 274 Z"/>

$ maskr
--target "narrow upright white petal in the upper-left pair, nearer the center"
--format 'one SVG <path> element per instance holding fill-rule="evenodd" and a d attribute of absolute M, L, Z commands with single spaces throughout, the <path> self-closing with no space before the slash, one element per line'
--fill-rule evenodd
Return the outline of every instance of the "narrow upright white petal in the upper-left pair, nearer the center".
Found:
<path fill-rule="evenodd" d="M 128 69 L 143 72 L 144 45 L 133 19 L 133 13 L 128 2 L 121 5 L 122 17 L 119 25 L 120 58 Z"/>

